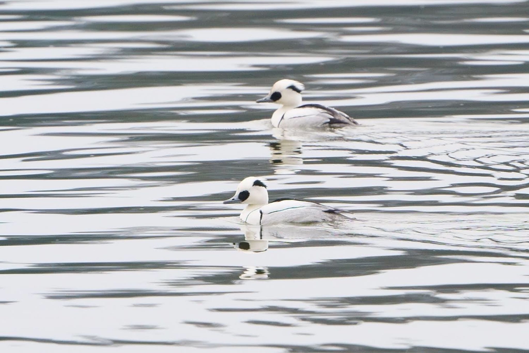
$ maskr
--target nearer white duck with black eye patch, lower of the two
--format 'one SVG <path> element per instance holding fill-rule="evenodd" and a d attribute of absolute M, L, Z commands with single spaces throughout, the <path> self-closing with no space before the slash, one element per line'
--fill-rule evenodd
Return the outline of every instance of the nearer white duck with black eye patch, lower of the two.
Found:
<path fill-rule="evenodd" d="M 223 204 L 242 203 L 247 205 L 239 218 L 248 224 L 269 225 L 280 223 L 329 222 L 350 219 L 342 213 L 349 213 L 319 203 L 278 198 L 268 202 L 267 186 L 262 179 L 247 177 L 237 186 L 235 195 Z"/>

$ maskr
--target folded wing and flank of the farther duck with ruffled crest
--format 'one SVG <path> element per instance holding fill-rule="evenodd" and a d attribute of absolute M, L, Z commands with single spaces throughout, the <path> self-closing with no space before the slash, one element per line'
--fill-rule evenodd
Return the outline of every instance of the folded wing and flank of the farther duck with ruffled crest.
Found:
<path fill-rule="evenodd" d="M 280 124 L 296 125 L 299 124 L 325 125 L 325 124 L 354 124 L 358 123 L 344 112 L 321 104 L 304 104 L 287 111 Z"/>

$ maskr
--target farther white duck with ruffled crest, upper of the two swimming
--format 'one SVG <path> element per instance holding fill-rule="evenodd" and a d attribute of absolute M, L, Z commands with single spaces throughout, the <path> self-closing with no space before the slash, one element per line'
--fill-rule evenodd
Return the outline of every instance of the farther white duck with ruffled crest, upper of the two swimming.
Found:
<path fill-rule="evenodd" d="M 358 125 L 352 117 L 322 104 L 302 105 L 301 93 L 305 85 L 291 79 L 281 79 L 273 84 L 270 93 L 256 103 L 276 103 L 281 107 L 272 114 L 275 128 L 303 128 L 325 125 Z"/>

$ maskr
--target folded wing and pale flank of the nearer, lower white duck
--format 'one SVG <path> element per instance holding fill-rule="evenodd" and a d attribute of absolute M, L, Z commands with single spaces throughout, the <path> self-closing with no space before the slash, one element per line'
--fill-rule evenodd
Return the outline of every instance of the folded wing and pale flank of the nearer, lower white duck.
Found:
<path fill-rule="evenodd" d="M 280 199 L 261 209 L 261 224 L 311 223 L 328 221 L 337 210 L 314 202 Z"/>

